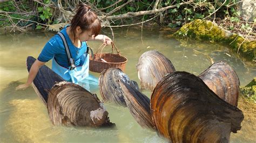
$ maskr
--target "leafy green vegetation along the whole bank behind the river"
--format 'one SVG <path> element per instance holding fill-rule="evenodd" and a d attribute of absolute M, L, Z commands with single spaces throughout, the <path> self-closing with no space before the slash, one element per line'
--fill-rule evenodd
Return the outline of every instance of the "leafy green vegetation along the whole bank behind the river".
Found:
<path fill-rule="evenodd" d="M 132 2 L 119 0 L 89 0 L 82 2 L 91 5 L 92 9 L 96 11 L 99 16 L 113 16 L 122 15 L 127 12 L 149 11 L 153 10 L 154 3 L 156 3 L 156 1 L 152 0 L 139 0 Z M 154 16 L 157 16 L 154 19 L 154 23 L 158 25 L 168 25 L 172 28 L 184 25 L 185 23 L 191 22 L 194 19 L 204 18 L 214 19 L 216 17 L 228 17 L 231 22 L 239 22 L 240 12 L 237 10 L 236 0 L 194 0 L 193 3 L 187 3 L 184 5 L 181 5 L 181 3 L 184 3 L 184 1 L 163 0 L 157 5 L 157 9 L 165 8 L 166 6 L 171 5 L 174 5 L 175 8 L 155 13 L 155 15 L 144 15 L 122 20 L 115 20 L 111 23 L 111 25 L 131 24 L 134 23 L 134 21 L 137 22 L 141 21 L 142 19 L 145 21 Z M 73 12 L 76 3 L 66 3 L 66 1 L 63 1 L 61 5 L 63 6 L 64 10 Z M 118 9 L 120 6 L 122 6 L 122 8 Z M 0 10 L 6 12 L 17 12 L 8 13 L 6 15 L 0 13 L 0 26 L 11 26 L 17 23 L 19 23 L 21 26 L 26 26 L 30 24 L 26 20 L 33 19 L 33 21 L 36 20 L 36 22 L 39 23 L 34 24 L 34 26 L 37 25 L 36 28 L 40 29 L 46 28 L 44 25 L 63 23 L 66 20 L 58 19 L 60 12 L 56 12 L 59 11 L 56 0 L 38 0 L 36 2 L 24 0 L 19 2 L 3 2 L 0 3 Z M 28 14 L 24 15 L 19 14 L 18 12 L 28 12 Z M 36 12 L 36 14 L 30 14 L 29 12 Z M 230 26 L 230 28 L 233 27 Z M 248 29 L 248 25 L 244 25 L 241 28 Z"/>

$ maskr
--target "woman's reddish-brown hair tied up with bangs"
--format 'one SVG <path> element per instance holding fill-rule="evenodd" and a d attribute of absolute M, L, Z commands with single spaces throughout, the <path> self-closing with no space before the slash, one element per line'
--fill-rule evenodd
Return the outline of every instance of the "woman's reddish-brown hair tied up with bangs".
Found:
<path fill-rule="evenodd" d="M 100 20 L 97 15 L 91 11 L 91 7 L 80 3 L 77 6 L 76 15 L 71 20 L 70 30 L 75 36 L 76 27 L 80 26 L 82 32 L 91 31 L 95 37 L 100 31 Z"/>

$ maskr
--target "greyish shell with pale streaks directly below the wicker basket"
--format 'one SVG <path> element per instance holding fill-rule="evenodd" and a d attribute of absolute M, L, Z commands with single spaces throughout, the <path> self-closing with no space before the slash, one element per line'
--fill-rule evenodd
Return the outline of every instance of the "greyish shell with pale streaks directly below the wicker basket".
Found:
<path fill-rule="evenodd" d="M 119 68 L 109 68 L 100 73 L 99 91 L 105 102 L 126 106 L 124 92 L 120 88 L 120 79 L 138 88 L 138 84 L 135 81 L 130 81 L 130 78 L 122 70 Z"/>

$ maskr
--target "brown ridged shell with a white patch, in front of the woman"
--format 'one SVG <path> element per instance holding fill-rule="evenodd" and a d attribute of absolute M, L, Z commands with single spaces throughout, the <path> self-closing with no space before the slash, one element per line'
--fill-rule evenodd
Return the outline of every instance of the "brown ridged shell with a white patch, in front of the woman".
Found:
<path fill-rule="evenodd" d="M 48 113 L 53 125 L 99 127 L 112 124 L 96 95 L 69 82 L 59 82 L 50 90 Z"/>

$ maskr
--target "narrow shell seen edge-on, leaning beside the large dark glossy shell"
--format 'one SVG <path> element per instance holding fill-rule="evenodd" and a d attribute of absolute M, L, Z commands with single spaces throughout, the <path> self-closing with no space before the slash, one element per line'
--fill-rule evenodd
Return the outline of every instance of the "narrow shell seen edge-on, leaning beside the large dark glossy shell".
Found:
<path fill-rule="evenodd" d="M 122 80 L 121 80 L 122 81 Z M 140 126 L 154 129 L 150 113 L 150 99 L 138 89 L 122 81 L 120 87 L 124 92 L 124 99 L 134 119 Z"/>

